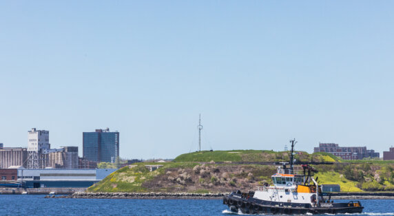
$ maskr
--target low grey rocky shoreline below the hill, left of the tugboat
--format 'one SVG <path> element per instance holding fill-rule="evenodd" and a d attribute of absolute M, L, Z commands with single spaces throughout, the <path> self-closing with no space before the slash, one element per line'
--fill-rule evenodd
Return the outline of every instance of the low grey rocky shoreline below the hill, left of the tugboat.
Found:
<path fill-rule="evenodd" d="M 222 199 L 228 193 L 85 193 L 47 196 L 46 198 L 72 199 Z"/>

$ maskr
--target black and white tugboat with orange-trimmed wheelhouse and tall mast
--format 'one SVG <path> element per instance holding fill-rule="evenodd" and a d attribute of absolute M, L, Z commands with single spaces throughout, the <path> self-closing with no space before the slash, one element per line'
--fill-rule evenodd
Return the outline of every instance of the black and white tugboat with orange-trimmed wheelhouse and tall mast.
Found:
<path fill-rule="evenodd" d="M 337 203 L 331 200 L 331 195 L 323 195 L 318 177 L 313 179 L 313 173 L 318 173 L 314 167 L 303 164 L 303 172 L 293 171 L 295 140 L 290 142 L 290 167 L 287 169 L 288 163 L 284 162 L 278 166 L 277 173 L 272 175 L 273 186 L 258 186 L 257 191 L 249 193 L 233 192 L 223 197 L 223 204 L 234 213 L 247 214 L 362 213 L 364 207 L 359 201 Z"/>

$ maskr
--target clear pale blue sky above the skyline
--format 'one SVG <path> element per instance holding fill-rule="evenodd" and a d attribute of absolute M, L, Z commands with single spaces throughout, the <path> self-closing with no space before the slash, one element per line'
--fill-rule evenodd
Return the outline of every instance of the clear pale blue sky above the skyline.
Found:
<path fill-rule="evenodd" d="M 0 1 L 0 142 L 123 158 L 394 144 L 394 1 Z"/>

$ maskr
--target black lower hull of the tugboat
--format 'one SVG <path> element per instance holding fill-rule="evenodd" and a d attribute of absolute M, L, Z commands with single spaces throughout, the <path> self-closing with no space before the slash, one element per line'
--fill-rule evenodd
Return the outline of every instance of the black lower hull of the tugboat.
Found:
<path fill-rule="evenodd" d="M 299 215 L 299 214 L 344 214 L 362 213 L 363 206 L 357 202 L 358 206 L 353 206 L 353 202 L 322 204 L 321 206 L 311 206 L 311 204 L 295 204 L 282 202 L 267 202 L 260 199 L 242 198 L 231 193 L 223 198 L 223 204 L 229 206 L 230 210 L 238 213 L 247 214 L 280 214 L 280 215 Z"/>

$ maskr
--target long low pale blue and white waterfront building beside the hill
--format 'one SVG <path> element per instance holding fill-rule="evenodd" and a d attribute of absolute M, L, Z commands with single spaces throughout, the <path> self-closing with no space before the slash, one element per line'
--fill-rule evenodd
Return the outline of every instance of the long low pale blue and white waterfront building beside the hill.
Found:
<path fill-rule="evenodd" d="M 116 169 L 23 169 L 18 171 L 18 181 L 26 188 L 87 188 L 100 182 Z"/>

